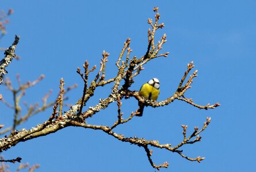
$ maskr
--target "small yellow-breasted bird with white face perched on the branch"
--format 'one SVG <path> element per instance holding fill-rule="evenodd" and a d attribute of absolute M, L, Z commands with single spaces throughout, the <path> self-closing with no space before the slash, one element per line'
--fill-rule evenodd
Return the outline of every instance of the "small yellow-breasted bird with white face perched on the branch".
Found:
<path fill-rule="evenodd" d="M 156 101 L 159 95 L 159 87 L 160 83 L 159 80 L 156 78 L 153 78 L 149 80 L 146 84 L 143 84 L 139 91 L 139 96 L 144 97 L 147 100 L 154 100 Z M 137 112 L 140 114 L 137 114 L 136 116 L 142 116 L 143 110 L 144 110 L 144 104 L 139 102 L 139 109 Z"/>

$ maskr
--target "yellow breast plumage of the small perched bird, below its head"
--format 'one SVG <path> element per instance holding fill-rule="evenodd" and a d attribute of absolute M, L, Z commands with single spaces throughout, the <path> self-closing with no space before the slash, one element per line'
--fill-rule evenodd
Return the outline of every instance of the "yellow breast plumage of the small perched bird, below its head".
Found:
<path fill-rule="evenodd" d="M 150 84 L 143 84 L 140 88 L 139 95 L 148 100 L 156 101 L 159 95 L 159 89 L 152 87 Z"/>

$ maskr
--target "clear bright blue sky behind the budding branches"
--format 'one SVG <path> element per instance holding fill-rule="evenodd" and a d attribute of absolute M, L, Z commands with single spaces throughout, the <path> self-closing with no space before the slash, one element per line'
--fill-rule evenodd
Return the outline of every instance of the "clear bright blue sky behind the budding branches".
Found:
<path fill-rule="evenodd" d="M 177 89 L 186 64 L 194 61 L 198 77 L 187 97 L 205 105 L 219 102 L 216 110 L 198 110 L 181 101 L 166 107 L 144 110 L 142 118 L 117 128 L 125 136 L 157 139 L 173 145 L 181 142 L 181 124 L 202 126 L 207 116 L 212 122 L 202 135 L 202 142 L 183 148 L 189 157 L 205 157 L 201 163 L 189 162 L 177 154 L 153 149 L 156 164 L 170 163 L 161 171 L 254 171 L 255 170 L 255 56 L 256 1 L 1 1 L 0 9 L 14 10 L 7 25 L 7 35 L 0 47 L 12 44 L 14 35 L 21 36 L 17 54 L 8 68 L 8 77 L 20 73 L 22 81 L 45 79 L 28 90 L 24 100 L 39 102 L 49 89 L 55 99 L 61 77 L 66 86 L 79 87 L 68 94 L 67 103 L 75 103 L 82 95 L 82 80 L 75 72 L 85 60 L 98 65 L 103 50 L 110 53 L 106 78 L 115 75 L 114 63 L 123 42 L 131 38 L 132 56 L 140 57 L 147 48 L 147 18 L 153 18 L 152 8 L 159 6 L 161 22 L 166 28 L 156 37 L 167 34 L 162 52 L 168 58 L 153 60 L 136 77 L 131 89 L 152 77 L 161 81 L 159 101 Z M 3 57 L 3 52 L 1 52 Z M 93 78 L 93 76 L 91 76 Z M 95 99 L 97 103 L 101 88 Z M 4 87 L 0 92 L 7 98 Z M 104 98 L 103 97 L 103 98 Z M 12 97 L 9 97 L 12 100 Z M 123 102 L 128 115 L 135 111 L 137 101 Z M 12 122 L 13 112 L 2 104 L 0 121 Z M 116 104 L 89 119 L 89 123 L 110 125 L 116 119 Z M 20 128 L 30 128 L 44 122 L 51 110 L 28 120 Z M 65 128 L 55 134 L 19 143 L 2 153 L 6 159 L 22 157 L 22 162 L 39 163 L 37 171 L 154 171 L 141 147 L 121 143 L 101 131 Z M 14 171 L 15 165 L 10 165 Z M 17 166 L 17 165 L 16 165 Z"/>

